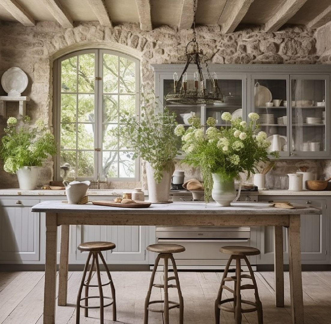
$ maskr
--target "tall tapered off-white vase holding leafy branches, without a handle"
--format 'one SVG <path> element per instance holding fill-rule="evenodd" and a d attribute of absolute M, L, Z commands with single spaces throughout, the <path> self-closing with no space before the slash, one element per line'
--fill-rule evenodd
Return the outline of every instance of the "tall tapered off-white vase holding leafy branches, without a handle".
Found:
<path fill-rule="evenodd" d="M 146 162 L 146 175 L 148 186 L 148 200 L 151 203 L 167 203 L 170 198 L 170 182 L 174 171 L 174 164 L 170 166 L 170 170 L 163 171 L 163 177 L 160 183 L 154 180 L 154 169 L 149 162 Z"/>

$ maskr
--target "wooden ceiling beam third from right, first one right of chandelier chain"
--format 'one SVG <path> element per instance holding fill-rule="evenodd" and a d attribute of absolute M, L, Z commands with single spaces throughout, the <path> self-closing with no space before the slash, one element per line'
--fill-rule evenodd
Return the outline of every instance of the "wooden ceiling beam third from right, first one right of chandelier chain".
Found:
<path fill-rule="evenodd" d="M 232 33 L 246 15 L 254 0 L 229 1 L 226 3 L 223 13 L 228 14 L 225 23 L 221 24 L 221 33 Z M 219 20 L 221 17 L 219 18 Z M 219 21 L 218 20 L 218 21 Z M 218 23 L 219 24 L 219 23 Z"/>

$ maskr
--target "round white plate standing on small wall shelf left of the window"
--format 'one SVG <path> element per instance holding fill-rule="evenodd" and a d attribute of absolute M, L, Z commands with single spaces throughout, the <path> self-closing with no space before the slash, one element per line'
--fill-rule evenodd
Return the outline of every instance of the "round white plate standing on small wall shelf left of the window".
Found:
<path fill-rule="evenodd" d="M 1 77 L 1 85 L 9 97 L 19 97 L 26 89 L 28 83 L 27 75 L 20 68 L 8 69 Z"/>

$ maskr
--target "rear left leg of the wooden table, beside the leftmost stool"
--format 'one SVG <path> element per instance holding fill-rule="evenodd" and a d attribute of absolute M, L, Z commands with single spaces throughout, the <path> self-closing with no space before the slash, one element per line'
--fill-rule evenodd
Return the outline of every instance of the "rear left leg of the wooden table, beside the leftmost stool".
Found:
<path fill-rule="evenodd" d="M 58 305 L 67 305 L 68 261 L 69 261 L 69 226 L 61 225 L 61 251 L 59 265 L 59 298 Z"/>

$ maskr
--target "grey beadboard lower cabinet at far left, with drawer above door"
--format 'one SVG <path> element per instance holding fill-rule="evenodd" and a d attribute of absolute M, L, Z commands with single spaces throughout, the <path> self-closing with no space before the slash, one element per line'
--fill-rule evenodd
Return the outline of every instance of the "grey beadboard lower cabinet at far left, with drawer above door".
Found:
<path fill-rule="evenodd" d="M 40 214 L 31 212 L 38 203 L 20 197 L 0 199 L 0 263 L 40 260 Z"/>

